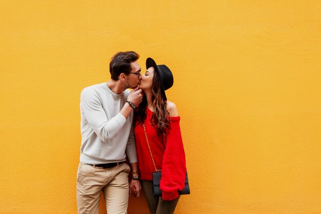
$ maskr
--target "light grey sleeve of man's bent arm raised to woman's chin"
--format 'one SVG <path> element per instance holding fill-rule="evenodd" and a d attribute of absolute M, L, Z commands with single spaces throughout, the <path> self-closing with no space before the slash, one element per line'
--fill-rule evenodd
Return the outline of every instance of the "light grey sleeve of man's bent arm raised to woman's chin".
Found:
<path fill-rule="evenodd" d="M 82 91 L 81 108 L 89 125 L 103 142 L 112 139 L 126 123 L 126 118 L 121 113 L 116 114 L 110 120 L 107 119 L 102 101 L 93 89 L 85 88 Z"/>

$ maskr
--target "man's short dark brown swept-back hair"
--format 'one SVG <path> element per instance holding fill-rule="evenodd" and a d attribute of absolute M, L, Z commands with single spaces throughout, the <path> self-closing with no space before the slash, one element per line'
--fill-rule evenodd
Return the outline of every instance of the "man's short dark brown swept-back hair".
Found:
<path fill-rule="evenodd" d="M 126 51 L 116 53 L 109 63 L 109 72 L 112 80 L 118 80 L 121 73 L 128 73 L 131 71 L 131 64 L 139 59 L 139 54 L 135 51 Z"/>

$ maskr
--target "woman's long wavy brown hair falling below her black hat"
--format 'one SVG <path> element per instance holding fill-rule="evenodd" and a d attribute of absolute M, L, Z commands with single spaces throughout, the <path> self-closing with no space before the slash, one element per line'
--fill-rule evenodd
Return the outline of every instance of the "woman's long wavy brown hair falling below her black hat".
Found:
<path fill-rule="evenodd" d="M 153 114 L 150 120 L 152 126 L 156 129 L 158 135 L 166 136 L 166 129 L 170 128 L 169 112 L 167 111 L 167 100 L 163 96 L 163 87 L 160 82 L 159 74 L 154 71 L 151 101 L 153 106 Z M 147 99 L 146 94 L 143 95 L 143 101 L 134 110 L 135 125 L 143 125 L 146 120 Z"/>

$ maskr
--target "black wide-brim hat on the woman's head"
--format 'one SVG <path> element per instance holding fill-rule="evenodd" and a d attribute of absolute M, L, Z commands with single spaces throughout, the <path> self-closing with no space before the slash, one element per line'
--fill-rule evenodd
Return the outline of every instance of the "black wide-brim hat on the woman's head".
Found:
<path fill-rule="evenodd" d="M 165 100 L 167 100 L 165 91 L 172 87 L 174 84 L 174 77 L 172 71 L 166 65 L 157 65 L 153 59 L 148 57 L 146 60 L 146 69 L 150 67 L 154 67 L 154 72 L 157 72 L 159 74 L 161 85 L 160 87 L 162 87 L 162 93 L 164 95 Z"/>

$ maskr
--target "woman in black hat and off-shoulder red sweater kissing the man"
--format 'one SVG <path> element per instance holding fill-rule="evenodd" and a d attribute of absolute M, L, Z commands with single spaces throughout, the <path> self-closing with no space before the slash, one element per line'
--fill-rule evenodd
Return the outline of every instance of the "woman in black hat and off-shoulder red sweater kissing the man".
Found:
<path fill-rule="evenodd" d="M 177 108 L 166 98 L 173 74 L 166 65 L 146 60 L 146 73 L 139 88 L 143 101 L 135 108 L 135 139 L 138 166 L 150 213 L 173 213 L 178 190 L 185 184 L 185 152 Z M 152 173 L 162 170 L 162 197 L 153 197 Z"/>

